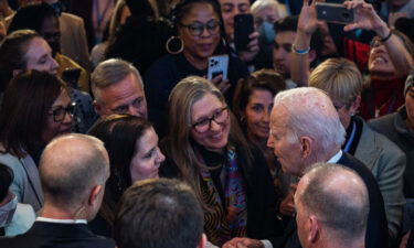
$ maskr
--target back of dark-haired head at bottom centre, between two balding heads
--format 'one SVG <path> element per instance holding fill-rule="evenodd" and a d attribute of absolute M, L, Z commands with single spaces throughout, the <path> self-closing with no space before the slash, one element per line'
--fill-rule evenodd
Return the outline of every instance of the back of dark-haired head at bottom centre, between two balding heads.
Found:
<path fill-rule="evenodd" d="M 123 195 L 115 220 L 119 248 L 204 247 L 203 212 L 178 180 L 148 180 Z"/>

